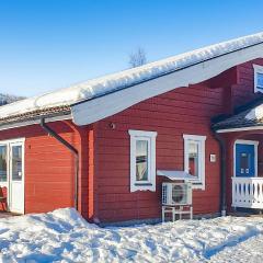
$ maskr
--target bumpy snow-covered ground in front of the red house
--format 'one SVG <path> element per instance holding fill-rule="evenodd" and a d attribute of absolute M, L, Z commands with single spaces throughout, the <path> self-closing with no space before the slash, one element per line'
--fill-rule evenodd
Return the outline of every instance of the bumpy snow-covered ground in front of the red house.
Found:
<path fill-rule="evenodd" d="M 72 208 L 0 219 L 0 262 L 263 262 L 263 219 L 99 228 Z"/>

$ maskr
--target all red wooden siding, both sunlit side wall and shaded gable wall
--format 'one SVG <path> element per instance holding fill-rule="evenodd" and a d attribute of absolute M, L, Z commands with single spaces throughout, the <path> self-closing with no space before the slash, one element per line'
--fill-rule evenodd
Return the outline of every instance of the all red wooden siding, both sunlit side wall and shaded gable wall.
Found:
<path fill-rule="evenodd" d="M 263 65 L 262 61 L 256 62 Z M 217 213 L 220 152 L 210 130 L 210 119 L 229 113 L 229 103 L 239 106 L 255 98 L 252 62 L 230 71 L 229 79 L 235 80 L 232 87 L 224 84 L 229 83 L 225 72 L 221 87 L 219 76 L 214 81 L 217 88 L 203 83 L 175 89 L 89 127 L 77 128 L 64 122 L 49 124 L 80 152 L 79 209 L 82 215 L 103 222 L 160 217 L 161 178 L 157 179 L 157 192 L 129 192 L 128 129 L 158 133 L 157 169 L 160 170 L 184 169 L 183 134 L 207 136 L 206 188 L 194 191 L 193 205 L 195 214 Z M 111 123 L 115 124 L 114 129 Z M 26 138 L 25 211 L 73 206 L 75 160 L 69 150 L 47 136 L 39 125 L 0 132 L 0 140 L 16 137 Z M 210 153 L 216 155 L 216 162 L 209 161 Z"/>

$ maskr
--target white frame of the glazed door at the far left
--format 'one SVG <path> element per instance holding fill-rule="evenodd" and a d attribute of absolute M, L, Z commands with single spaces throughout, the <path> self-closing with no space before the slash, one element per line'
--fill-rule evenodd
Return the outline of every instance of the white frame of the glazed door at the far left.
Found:
<path fill-rule="evenodd" d="M 8 146 L 8 174 L 7 174 L 7 182 L 0 182 L 0 186 L 5 186 L 8 188 L 8 196 L 7 196 L 7 205 L 8 205 L 8 210 L 10 210 L 10 187 L 11 187 L 11 167 L 10 167 L 10 153 L 11 153 L 11 145 L 12 144 L 21 144 L 22 145 L 22 174 L 23 174 L 23 180 L 22 180 L 22 184 L 23 184 L 23 209 L 21 214 L 24 214 L 25 211 L 25 138 L 15 138 L 15 139 L 7 139 L 7 140 L 0 140 L 0 145 L 7 145 Z"/>

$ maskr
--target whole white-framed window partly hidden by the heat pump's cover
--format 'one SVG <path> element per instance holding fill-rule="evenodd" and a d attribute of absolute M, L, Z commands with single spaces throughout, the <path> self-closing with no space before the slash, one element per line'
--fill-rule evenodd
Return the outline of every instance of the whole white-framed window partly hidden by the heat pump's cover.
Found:
<path fill-rule="evenodd" d="M 183 135 L 184 171 L 192 174 L 194 188 L 205 190 L 205 140 L 206 136 Z"/>

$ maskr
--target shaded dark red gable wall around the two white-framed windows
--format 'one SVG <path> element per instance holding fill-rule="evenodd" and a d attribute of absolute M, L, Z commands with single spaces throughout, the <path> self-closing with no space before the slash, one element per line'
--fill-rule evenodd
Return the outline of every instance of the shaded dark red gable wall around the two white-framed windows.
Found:
<path fill-rule="evenodd" d="M 263 60 L 256 60 L 262 64 Z M 253 61 L 255 62 L 255 61 Z M 263 65 L 263 64 L 262 64 Z M 231 69 L 232 71 L 233 69 Z M 210 132 L 210 119 L 226 113 L 227 95 L 232 106 L 255 98 L 253 93 L 252 62 L 236 67 L 235 85 L 213 89 L 196 84 L 180 88 L 138 103 L 130 108 L 99 122 L 96 129 L 98 211 L 100 221 L 159 218 L 161 209 L 161 179 L 157 192 L 129 192 L 129 135 L 128 129 L 156 130 L 157 169 L 183 170 L 183 134 L 205 135 L 206 187 L 195 190 L 194 214 L 219 211 L 220 152 Z M 226 77 L 226 75 L 224 75 Z M 232 89 L 231 92 L 228 92 Z M 110 124 L 115 124 L 115 129 Z M 217 161 L 209 161 L 215 153 Z"/>

